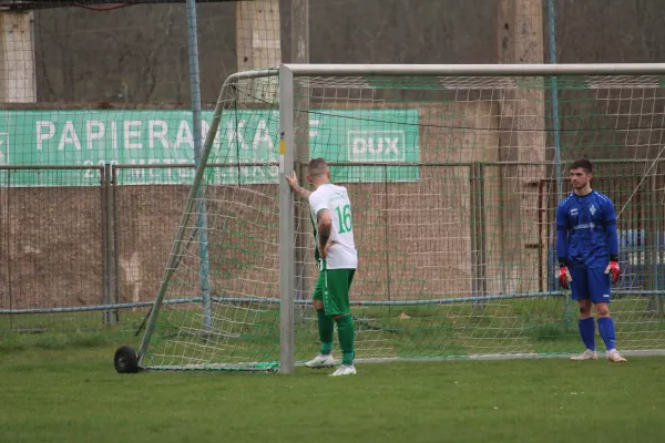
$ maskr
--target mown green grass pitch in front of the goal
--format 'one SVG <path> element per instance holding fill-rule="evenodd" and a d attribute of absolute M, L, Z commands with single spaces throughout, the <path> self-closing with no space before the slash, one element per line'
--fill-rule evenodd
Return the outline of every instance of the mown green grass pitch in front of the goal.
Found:
<path fill-rule="evenodd" d="M 146 372 L 114 347 L 3 351 L 1 442 L 662 442 L 665 358 Z"/>

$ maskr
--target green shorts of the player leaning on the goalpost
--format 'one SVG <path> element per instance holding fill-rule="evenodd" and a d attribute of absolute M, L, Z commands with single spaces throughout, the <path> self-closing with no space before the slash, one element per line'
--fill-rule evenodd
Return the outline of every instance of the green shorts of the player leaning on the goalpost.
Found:
<path fill-rule="evenodd" d="M 324 269 L 319 272 L 313 300 L 323 300 L 326 316 L 349 313 L 349 290 L 356 269 Z"/>

